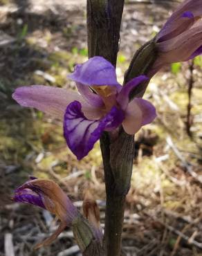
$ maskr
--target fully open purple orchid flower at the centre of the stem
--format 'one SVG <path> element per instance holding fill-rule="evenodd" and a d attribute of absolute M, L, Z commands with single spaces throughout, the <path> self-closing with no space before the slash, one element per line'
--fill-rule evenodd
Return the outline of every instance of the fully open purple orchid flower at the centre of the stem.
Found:
<path fill-rule="evenodd" d="M 148 78 L 140 75 L 125 86 L 117 82 L 116 70 L 103 57 L 92 57 L 75 66 L 69 77 L 80 92 L 52 86 L 19 87 L 12 98 L 21 106 L 35 107 L 64 121 L 64 137 L 73 154 L 80 160 L 86 156 L 103 131 L 113 131 L 122 125 L 127 134 L 156 117 L 154 106 L 135 98 L 130 92 Z"/>

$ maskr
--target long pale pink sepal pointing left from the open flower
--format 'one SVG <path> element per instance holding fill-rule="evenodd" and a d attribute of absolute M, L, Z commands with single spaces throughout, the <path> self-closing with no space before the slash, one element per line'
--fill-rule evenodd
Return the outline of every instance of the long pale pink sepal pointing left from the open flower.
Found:
<path fill-rule="evenodd" d="M 53 86 L 22 86 L 15 90 L 12 98 L 23 107 L 34 107 L 63 119 L 66 106 L 73 100 L 84 101 L 75 91 Z"/>

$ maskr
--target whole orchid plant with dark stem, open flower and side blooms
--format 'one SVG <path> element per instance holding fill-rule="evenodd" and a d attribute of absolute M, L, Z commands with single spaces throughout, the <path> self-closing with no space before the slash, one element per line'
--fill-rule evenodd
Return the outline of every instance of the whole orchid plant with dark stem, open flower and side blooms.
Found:
<path fill-rule="evenodd" d="M 134 160 L 134 134 L 156 117 L 154 106 L 142 97 L 152 76 L 166 64 L 190 60 L 202 53 L 202 0 L 186 0 L 158 35 L 134 55 L 125 82 L 116 79 L 116 58 L 124 0 L 87 0 L 89 60 L 77 64 L 69 77 L 79 93 L 53 86 L 19 87 L 12 97 L 63 121 L 64 138 L 78 160 L 100 139 L 107 206 L 104 239 L 95 201 L 84 200 L 84 217 L 53 181 L 32 179 L 14 199 L 49 210 L 59 217 L 58 230 L 48 245 L 72 226 L 84 256 L 120 256 L 125 197 Z M 89 221 L 87 221 L 89 219 Z"/>

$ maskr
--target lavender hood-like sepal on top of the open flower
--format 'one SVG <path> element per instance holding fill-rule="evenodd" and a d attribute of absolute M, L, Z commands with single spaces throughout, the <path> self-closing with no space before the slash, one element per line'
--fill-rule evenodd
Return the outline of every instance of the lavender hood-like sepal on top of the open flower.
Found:
<path fill-rule="evenodd" d="M 68 77 L 83 85 L 120 86 L 114 66 L 100 56 L 91 57 L 84 64 L 76 65 L 75 71 Z"/>

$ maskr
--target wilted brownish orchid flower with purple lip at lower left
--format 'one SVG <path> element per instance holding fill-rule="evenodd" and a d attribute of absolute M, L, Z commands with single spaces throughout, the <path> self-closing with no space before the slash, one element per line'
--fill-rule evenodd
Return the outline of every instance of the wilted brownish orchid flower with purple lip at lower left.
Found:
<path fill-rule="evenodd" d="M 15 190 L 13 200 L 20 203 L 30 203 L 48 210 L 55 214 L 61 223 L 57 230 L 44 240 L 37 244 L 35 248 L 48 246 L 57 236 L 66 228 L 71 226 L 73 221 L 79 216 L 77 208 L 73 205 L 64 191 L 54 181 L 47 179 L 31 178 Z"/>

